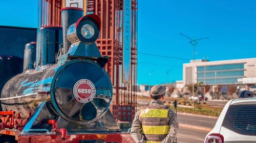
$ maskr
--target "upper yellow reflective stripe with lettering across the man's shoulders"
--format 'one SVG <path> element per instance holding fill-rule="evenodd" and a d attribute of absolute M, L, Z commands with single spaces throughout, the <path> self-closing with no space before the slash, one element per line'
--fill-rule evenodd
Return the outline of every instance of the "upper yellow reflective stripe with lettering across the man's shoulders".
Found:
<path fill-rule="evenodd" d="M 167 117 L 168 110 L 166 109 L 142 109 L 140 117 Z"/>

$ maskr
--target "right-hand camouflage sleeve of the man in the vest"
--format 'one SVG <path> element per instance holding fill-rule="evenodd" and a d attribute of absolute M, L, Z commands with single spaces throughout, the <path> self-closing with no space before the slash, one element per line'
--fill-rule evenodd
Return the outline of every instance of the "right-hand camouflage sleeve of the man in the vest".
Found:
<path fill-rule="evenodd" d="M 167 136 L 164 138 L 164 140 L 162 141 L 162 143 L 175 142 L 175 139 L 177 136 L 177 131 L 179 129 L 177 115 L 172 109 L 169 109 L 168 120 L 169 120 L 169 132 L 168 132 Z"/>

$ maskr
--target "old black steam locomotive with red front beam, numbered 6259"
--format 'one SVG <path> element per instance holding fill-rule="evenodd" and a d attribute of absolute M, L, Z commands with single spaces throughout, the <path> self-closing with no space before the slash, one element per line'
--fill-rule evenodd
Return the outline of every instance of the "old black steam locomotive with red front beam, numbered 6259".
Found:
<path fill-rule="evenodd" d="M 134 142 L 109 110 L 108 57 L 95 43 L 100 18 L 80 8 L 61 14 L 62 28 L 39 28 L 25 46 L 23 73 L 3 87 L 0 142 Z"/>

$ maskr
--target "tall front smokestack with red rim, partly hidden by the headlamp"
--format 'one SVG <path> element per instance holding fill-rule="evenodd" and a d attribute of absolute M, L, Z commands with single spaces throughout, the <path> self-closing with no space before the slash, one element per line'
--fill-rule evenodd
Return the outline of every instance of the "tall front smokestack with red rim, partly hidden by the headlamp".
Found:
<path fill-rule="evenodd" d="M 83 16 L 83 9 L 80 8 L 62 8 L 62 32 L 63 32 L 63 54 L 67 54 L 71 43 L 67 38 L 67 31 L 69 26 L 75 23 L 79 18 Z"/>

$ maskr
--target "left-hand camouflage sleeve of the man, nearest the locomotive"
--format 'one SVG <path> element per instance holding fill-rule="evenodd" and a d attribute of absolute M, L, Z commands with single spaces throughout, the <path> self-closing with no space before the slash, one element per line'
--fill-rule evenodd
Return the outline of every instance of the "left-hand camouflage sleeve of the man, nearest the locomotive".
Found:
<path fill-rule="evenodd" d="M 144 136 L 141 133 L 142 125 L 139 120 L 139 114 L 140 114 L 140 111 L 136 112 L 135 114 L 133 124 L 132 124 L 132 129 L 131 129 L 131 135 L 136 143 L 145 143 Z"/>

